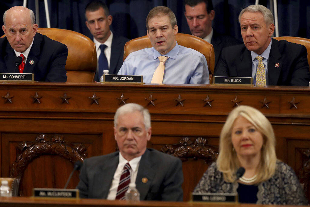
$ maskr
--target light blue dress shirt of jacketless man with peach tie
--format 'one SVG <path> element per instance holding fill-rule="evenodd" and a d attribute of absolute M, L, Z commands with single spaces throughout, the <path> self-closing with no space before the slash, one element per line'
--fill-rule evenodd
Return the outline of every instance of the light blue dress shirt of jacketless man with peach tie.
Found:
<path fill-rule="evenodd" d="M 143 75 L 144 83 L 151 83 L 153 74 L 162 56 L 154 47 L 132 52 L 124 61 L 118 75 Z M 206 57 L 200 52 L 176 43 L 166 55 L 162 83 L 209 84 L 209 70 Z"/>

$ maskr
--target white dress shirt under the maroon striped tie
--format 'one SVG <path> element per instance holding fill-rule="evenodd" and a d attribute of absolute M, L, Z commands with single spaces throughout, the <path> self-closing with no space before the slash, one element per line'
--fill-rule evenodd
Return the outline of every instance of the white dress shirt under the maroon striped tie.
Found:
<path fill-rule="evenodd" d="M 141 160 L 141 156 L 136 157 L 129 161 L 129 164 L 131 166 L 131 169 L 129 170 L 130 171 L 130 183 L 135 183 L 136 181 L 140 160 Z M 117 169 L 115 170 L 115 173 L 113 176 L 113 181 L 112 181 L 109 193 L 108 193 L 107 200 L 115 200 L 119 179 L 121 178 L 124 165 L 127 162 L 128 161 L 122 156 L 122 154 L 119 153 L 119 162 L 118 162 Z"/>

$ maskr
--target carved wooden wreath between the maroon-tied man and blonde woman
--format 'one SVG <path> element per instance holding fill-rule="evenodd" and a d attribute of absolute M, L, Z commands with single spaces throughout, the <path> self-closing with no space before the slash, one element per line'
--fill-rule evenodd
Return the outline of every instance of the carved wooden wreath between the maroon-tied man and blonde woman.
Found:
<path fill-rule="evenodd" d="M 215 162 L 219 150 L 215 146 L 207 145 L 206 142 L 207 140 L 202 137 L 196 138 L 194 142 L 189 137 L 182 137 L 179 144 L 166 145 L 162 147 L 161 151 L 178 157 L 183 162 L 188 158 L 193 158 L 194 160 L 203 159 L 210 164 Z"/>

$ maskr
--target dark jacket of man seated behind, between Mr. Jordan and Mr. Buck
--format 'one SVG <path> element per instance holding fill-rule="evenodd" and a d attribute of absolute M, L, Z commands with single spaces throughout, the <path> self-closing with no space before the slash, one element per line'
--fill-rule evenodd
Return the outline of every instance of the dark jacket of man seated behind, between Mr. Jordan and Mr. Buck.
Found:
<path fill-rule="evenodd" d="M 213 29 L 213 35 L 211 38 L 211 44 L 214 47 L 214 54 L 215 54 L 215 69 L 219 61 L 219 57 L 221 56 L 221 52 L 224 47 L 234 46 L 242 44 L 242 42 L 236 38 L 219 34 Z"/>

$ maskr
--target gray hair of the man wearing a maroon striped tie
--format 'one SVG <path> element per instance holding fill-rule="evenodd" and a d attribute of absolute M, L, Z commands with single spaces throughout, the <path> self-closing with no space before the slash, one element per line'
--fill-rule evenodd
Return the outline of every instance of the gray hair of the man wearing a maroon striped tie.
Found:
<path fill-rule="evenodd" d="M 124 106 L 121 106 L 116 110 L 116 113 L 114 115 L 114 127 L 117 128 L 117 119 L 119 116 L 135 111 L 139 111 L 141 115 L 143 115 L 145 129 L 148 130 L 151 127 L 151 115 L 148 112 L 148 109 L 135 103 L 125 104 Z"/>

